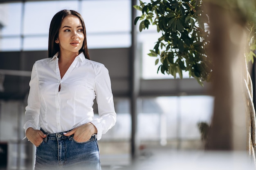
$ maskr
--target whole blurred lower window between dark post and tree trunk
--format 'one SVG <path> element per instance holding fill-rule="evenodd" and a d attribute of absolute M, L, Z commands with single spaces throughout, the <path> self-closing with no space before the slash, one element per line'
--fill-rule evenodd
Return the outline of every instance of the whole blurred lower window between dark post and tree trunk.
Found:
<path fill-rule="evenodd" d="M 192 148 L 201 146 L 198 123 L 210 123 L 211 96 L 167 96 L 138 100 L 138 136 L 141 144 Z"/>

